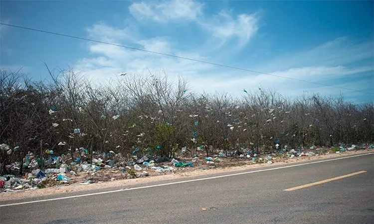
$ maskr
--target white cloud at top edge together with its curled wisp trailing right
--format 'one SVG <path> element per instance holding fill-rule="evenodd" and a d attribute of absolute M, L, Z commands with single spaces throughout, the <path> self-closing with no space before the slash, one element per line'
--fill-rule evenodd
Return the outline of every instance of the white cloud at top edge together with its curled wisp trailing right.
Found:
<path fill-rule="evenodd" d="M 236 38 L 236 48 L 240 49 L 258 31 L 258 13 L 242 13 L 233 17 L 228 11 L 207 15 L 202 9 L 203 4 L 193 0 L 140 1 L 129 6 L 130 13 L 138 20 L 160 23 L 181 19 L 194 21 L 218 41 L 216 47 Z"/>

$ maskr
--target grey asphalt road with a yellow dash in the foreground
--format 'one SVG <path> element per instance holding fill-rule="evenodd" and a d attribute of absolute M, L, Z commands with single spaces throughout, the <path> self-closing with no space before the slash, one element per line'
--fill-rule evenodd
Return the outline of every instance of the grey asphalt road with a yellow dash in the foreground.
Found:
<path fill-rule="evenodd" d="M 106 194 L 79 193 L 91 194 L 84 197 L 3 202 L 0 223 L 374 223 L 374 154 L 258 170 Z M 367 172 L 284 191 L 358 171 Z M 14 205 L 66 196 L 73 197 Z"/>

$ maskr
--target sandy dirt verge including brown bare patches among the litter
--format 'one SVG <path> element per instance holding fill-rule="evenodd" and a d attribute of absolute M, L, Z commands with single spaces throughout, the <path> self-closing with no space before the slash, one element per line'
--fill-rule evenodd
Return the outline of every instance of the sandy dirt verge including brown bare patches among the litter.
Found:
<path fill-rule="evenodd" d="M 176 168 L 173 171 L 165 173 L 158 173 L 155 170 L 147 169 L 149 176 L 141 177 L 136 179 L 124 179 L 126 173 L 120 172 L 119 170 L 106 170 L 105 172 L 97 173 L 95 176 L 91 176 L 90 173 L 81 172 L 74 177 L 74 181 L 71 181 L 69 185 L 57 185 L 47 187 L 43 189 L 29 189 L 20 190 L 14 192 L 6 192 L 0 194 L 0 201 L 25 199 L 39 196 L 55 195 L 67 192 L 79 192 L 86 190 L 98 190 L 105 188 L 115 187 L 126 187 L 129 188 L 134 184 L 151 184 L 157 181 L 166 180 L 178 180 L 184 177 L 198 177 L 207 174 L 224 174 L 232 171 L 242 171 L 250 168 L 267 168 L 275 165 L 287 165 L 302 161 L 313 161 L 318 159 L 336 158 L 349 155 L 357 155 L 368 152 L 374 152 L 374 149 L 363 149 L 355 151 L 346 151 L 342 153 L 333 153 L 317 155 L 317 156 L 302 156 L 294 158 L 273 158 L 272 164 L 261 163 L 251 164 L 252 161 L 249 159 L 228 159 L 223 158 L 221 162 L 215 162 L 214 165 L 208 165 L 205 161 L 200 159 L 199 162 L 193 163 L 193 167 Z M 165 163 L 165 165 L 171 165 L 171 162 Z M 84 180 L 93 179 L 95 183 L 92 184 L 81 184 Z M 53 183 L 51 183 L 53 185 Z"/>

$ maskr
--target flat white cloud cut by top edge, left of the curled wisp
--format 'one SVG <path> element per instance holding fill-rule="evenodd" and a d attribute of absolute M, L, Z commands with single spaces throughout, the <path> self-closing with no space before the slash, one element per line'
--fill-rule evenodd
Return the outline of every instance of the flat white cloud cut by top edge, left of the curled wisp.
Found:
<path fill-rule="evenodd" d="M 140 1 L 129 6 L 130 13 L 138 20 L 157 22 L 169 20 L 194 20 L 201 13 L 202 4 L 193 0 Z"/>

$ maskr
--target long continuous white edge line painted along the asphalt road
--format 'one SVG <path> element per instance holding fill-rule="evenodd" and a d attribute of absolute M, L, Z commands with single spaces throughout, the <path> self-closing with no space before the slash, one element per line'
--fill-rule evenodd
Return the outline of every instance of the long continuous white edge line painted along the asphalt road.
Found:
<path fill-rule="evenodd" d="M 227 175 L 221 175 L 221 176 L 216 176 L 216 177 L 206 177 L 206 178 L 199 178 L 199 179 L 186 180 L 186 181 L 177 181 L 177 182 L 165 183 L 165 184 L 148 185 L 148 186 L 136 187 L 136 188 L 127 188 L 127 189 L 120 189 L 120 190 L 114 190 L 114 191 L 105 191 L 105 192 L 97 192 L 97 193 L 84 194 L 84 195 L 67 196 L 67 197 L 62 197 L 62 198 L 51 198 L 51 199 L 43 199 L 43 200 L 36 200 L 36 201 L 30 201 L 30 202 L 12 203 L 12 204 L 0 205 L 0 208 L 7 207 L 7 206 L 26 205 L 26 204 L 32 204 L 32 203 L 38 203 L 38 202 L 49 202 L 49 201 L 80 198 L 80 197 L 87 197 L 87 196 L 94 196 L 94 195 L 111 194 L 111 193 L 116 193 L 116 192 L 139 190 L 139 189 L 144 189 L 144 188 L 162 187 L 162 186 L 168 186 L 168 185 L 174 185 L 174 184 L 183 184 L 183 183 L 189 183 L 189 182 L 195 182 L 195 181 L 218 179 L 222 177 L 232 177 L 232 176 L 243 175 L 243 174 L 259 173 L 259 172 L 264 172 L 264 171 L 280 170 L 280 169 L 286 169 L 290 167 L 305 166 L 305 165 L 316 164 L 316 163 L 324 163 L 324 162 L 329 162 L 329 161 L 348 159 L 348 158 L 371 155 L 371 154 L 374 154 L 374 153 L 371 152 L 371 153 L 366 153 L 366 154 L 359 154 L 359 155 L 328 159 L 328 160 L 322 160 L 322 161 L 315 161 L 315 162 L 309 162 L 309 163 L 301 163 L 301 164 L 295 164 L 295 165 L 290 165 L 290 166 L 282 166 L 282 167 L 275 167 L 275 168 L 269 168 L 269 169 L 263 169 L 263 170 L 253 170 L 253 171 L 247 171 L 247 172 L 242 172 L 242 173 L 227 174 Z"/>

